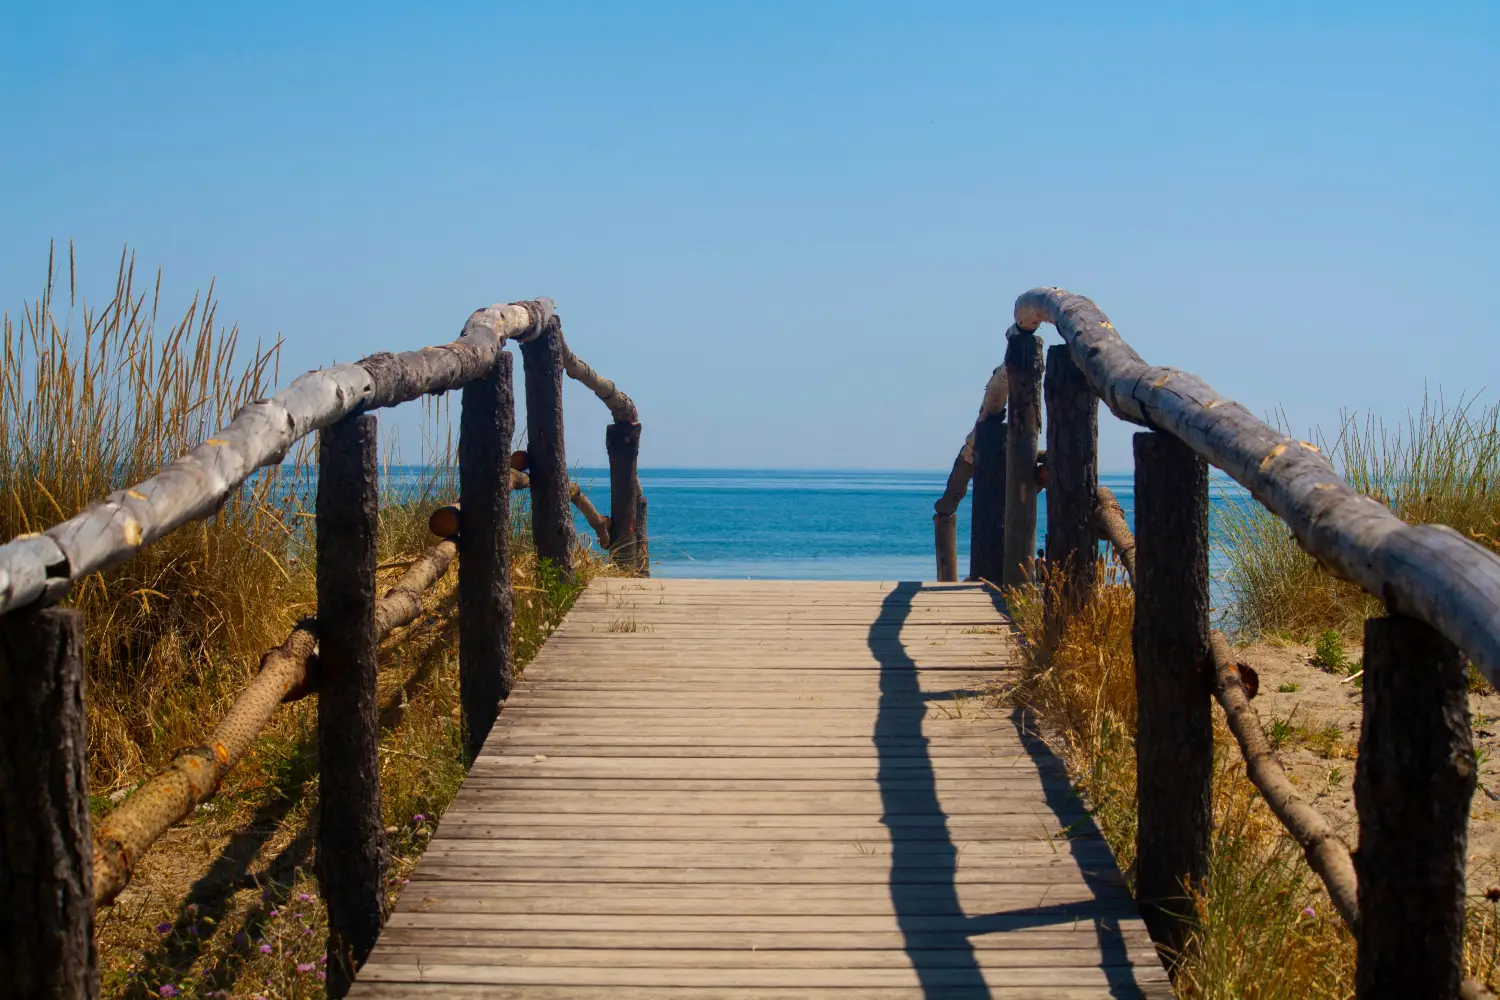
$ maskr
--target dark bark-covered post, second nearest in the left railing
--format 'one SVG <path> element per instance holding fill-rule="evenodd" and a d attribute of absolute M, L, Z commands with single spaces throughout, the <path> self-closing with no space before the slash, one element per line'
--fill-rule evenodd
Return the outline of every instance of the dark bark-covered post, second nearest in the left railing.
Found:
<path fill-rule="evenodd" d="M 318 441 L 318 886 L 328 996 L 348 993 L 386 922 L 375 702 L 375 417 Z M 466 516 L 466 511 L 465 511 Z"/>

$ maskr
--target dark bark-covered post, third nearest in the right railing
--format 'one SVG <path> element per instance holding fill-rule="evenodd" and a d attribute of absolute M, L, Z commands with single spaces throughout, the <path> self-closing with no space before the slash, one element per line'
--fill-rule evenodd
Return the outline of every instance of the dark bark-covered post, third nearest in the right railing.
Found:
<path fill-rule="evenodd" d="M 1072 360 L 1068 345 L 1047 348 L 1047 571 L 1064 586 L 1050 588 L 1047 610 L 1060 625 L 1094 592 L 1100 489 L 1100 400 Z"/>

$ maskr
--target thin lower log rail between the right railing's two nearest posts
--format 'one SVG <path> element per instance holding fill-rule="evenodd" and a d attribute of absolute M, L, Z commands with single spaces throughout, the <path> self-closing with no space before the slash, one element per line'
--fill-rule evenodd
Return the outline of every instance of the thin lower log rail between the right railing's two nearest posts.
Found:
<path fill-rule="evenodd" d="M 1354 877 L 1354 862 L 1348 844 L 1334 832 L 1323 814 L 1312 808 L 1298 792 L 1287 772 L 1266 742 L 1266 730 L 1260 714 L 1250 703 L 1250 696 L 1239 676 L 1234 654 L 1222 634 L 1210 636 L 1214 651 L 1214 696 L 1224 709 L 1228 730 L 1239 742 L 1245 757 L 1245 774 L 1264 796 L 1266 805 L 1287 828 L 1292 838 L 1302 847 L 1308 865 L 1323 880 L 1334 909 L 1344 918 L 1352 931 L 1359 933 L 1359 880 Z"/>

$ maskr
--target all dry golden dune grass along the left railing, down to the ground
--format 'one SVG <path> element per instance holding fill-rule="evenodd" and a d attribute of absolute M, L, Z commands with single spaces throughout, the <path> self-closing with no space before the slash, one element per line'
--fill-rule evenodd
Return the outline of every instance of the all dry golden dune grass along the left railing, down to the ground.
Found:
<path fill-rule="evenodd" d="M 81 303 L 75 288 L 70 255 L 66 273 L 50 259 L 42 295 L 3 319 L 6 537 L 44 531 L 147 478 L 278 381 L 279 343 L 242 349 L 236 328 L 216 324 L 212 286 L 171 322 L 158 312 L 160 277 L 140 291 L 128 255 L 102 307 Z M 441 429 L 440 408 L 426 415 Z M 212 519 L 81 580 L 69 598 L 84 615 L 96 814 L 201 741 L 261 654 L 315 610 L 310 444 L 288 466 L 258 474 Z M 456 498 L 452 439 L 429 451 L 420 483 L 382 495 L 382 586 L 435 541 L 429 511 Z M 586 540 L 574 553 L 574 580 L 538 565 L 526 495 L 514 499 L 512 643 L 524 666 L 582 585 L 609 568 Z M 380 652 L 392 898 L 465 774 L 454 577 L 440 580 L 424 613 Z M 316 775 L 312 697 L 273 718 L 219 795 L 170 831 L 99 913 L 104 996 L 322 996 L 326 921 L 312 874 Z"/>

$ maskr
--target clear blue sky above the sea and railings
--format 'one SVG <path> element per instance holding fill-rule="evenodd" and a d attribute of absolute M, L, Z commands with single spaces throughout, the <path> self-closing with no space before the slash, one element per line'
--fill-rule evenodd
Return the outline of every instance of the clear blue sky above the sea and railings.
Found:
<path fill-rule="evenodd" d="M 946 466 L 1032 285 L 1299 429 L 1500 381 L 1490 0 L 236 6 L 4 4 L 0 306 L 129 243 L 285 375 L 552 295 L 656 466 Z"/>

